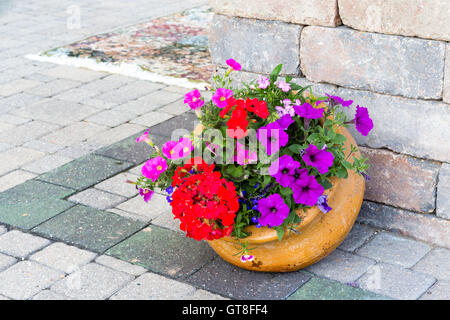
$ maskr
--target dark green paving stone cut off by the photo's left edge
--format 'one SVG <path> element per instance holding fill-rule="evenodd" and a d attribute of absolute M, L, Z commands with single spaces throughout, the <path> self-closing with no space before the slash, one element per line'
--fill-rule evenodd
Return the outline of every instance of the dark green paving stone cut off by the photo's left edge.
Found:
<path fill-rule="evenodd" d="M 29 230 L 72 206 L 60 199 L 5 201 L 0 203 L 0 222 Z"/>

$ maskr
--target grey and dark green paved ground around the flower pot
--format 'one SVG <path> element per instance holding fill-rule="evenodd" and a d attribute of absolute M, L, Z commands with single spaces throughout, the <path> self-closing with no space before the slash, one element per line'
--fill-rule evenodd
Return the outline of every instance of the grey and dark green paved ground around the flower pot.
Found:
<path fill-rule="evenodd" d="M 123 183 L 149 155 L 140 132 L 193 127 L 185 90 L 24 55 L 205 1 L 77 3 L 80 29 L 70 1 L 0 5 L 0 299 L 450 299 L 449 250 L 359 223 L 288 274 L 186 239 L 164 195 L 146 204 Z"/>

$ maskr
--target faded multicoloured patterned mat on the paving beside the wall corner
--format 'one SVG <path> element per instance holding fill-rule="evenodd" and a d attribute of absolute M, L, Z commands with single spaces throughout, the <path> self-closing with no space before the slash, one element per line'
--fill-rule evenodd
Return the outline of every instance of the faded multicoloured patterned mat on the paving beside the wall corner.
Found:
<path fill-rule="evenodd" d="M 194 8 L 91 36 L 30 58 L 148 80 L 158 81 L 155 76 L 159 75 L 162 80 L 178 78 L 205 83 L 214 71 L 208 50 L 212 15 L 207 6 Z M 141 72 L 151 73 L 153 77 L 145 77 Z"/>

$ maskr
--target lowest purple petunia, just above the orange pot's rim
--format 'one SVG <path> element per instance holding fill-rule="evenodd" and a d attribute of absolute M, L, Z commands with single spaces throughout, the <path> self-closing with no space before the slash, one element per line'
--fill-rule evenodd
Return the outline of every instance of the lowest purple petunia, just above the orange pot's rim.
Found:
<path fill-rule="evenodd" d="M 288 217 L 290 210 L 283 198 L 275 193 L 258 201 L 258 211 L 261 213 L 258 220 L 260 225 L 276 227 Z"/>

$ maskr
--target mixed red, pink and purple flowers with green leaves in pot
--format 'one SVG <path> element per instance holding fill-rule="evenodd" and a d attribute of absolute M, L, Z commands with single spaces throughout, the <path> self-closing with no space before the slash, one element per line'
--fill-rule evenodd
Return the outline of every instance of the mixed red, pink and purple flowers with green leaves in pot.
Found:
<path fill-rule="evenodd" d="M 347 170 L 354 170 L 368 179 L 366 159 L 352 156 L 356 146 L 345 156 L 346 138 L 339 128 L 354 125 L 366 136 L 373 122 L 359 105 L 355 118 L 347 119 L 343 109 L 352 100 L 317 97 L 291 77 L 281 79 L 282 65 L 268 77 L 233 88 L 230 74 L 241 66 L 233 59 L 227 64 L 223 75 L 213 77 L 210 101 L 198 90 L 185 96 L 199 117 L 201 134 L 168 141 L 161 150 L 148 131 L 138 138 L 156 152 L 135 184 L 144 201 L 155 188 L 167 192 L 187 237 L 241 239 L 237 254 L 246 262 L 254 258 L 245 242 L 247 226 L 273 228 L 281 241 L 299 224 L 298 210 L 332 211 L 324 194 L 332 177 L 345 179 Z"/>

